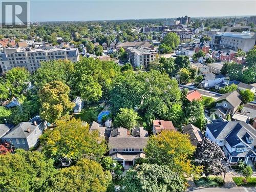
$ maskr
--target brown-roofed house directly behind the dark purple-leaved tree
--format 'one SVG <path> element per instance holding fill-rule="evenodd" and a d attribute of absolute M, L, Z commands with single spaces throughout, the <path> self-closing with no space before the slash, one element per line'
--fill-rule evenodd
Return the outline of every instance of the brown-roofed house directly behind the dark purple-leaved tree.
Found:
<path fill-rule="evenodd" d="M 189 140 L 194 146 L 197 146 L 204 138 L 201 130 L 191 123 L 183 126 L 182 131 L 189 136 Z"/>

